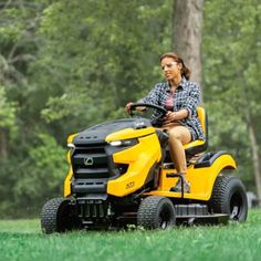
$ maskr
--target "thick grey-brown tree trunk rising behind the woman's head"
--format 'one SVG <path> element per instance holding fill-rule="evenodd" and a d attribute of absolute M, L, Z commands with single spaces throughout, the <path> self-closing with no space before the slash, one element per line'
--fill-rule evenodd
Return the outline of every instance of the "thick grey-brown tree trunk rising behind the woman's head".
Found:
<path fill-rule="evenodd" d="M 202 69 L 202 9 L 203 0 L 174 0 L 173 49 L 191 70 L 191 81 L 199 84 Z"/>

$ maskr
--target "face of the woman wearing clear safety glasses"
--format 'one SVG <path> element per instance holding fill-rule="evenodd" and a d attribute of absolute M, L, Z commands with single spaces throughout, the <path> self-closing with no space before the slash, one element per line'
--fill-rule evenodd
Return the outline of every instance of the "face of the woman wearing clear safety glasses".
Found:
<path fill-rule="evenodd" d="M 160 62 L 164 76 L 171 81 L 181 76 L 182 65 L 177 63 L 173 58 L 164 58 Z"/>

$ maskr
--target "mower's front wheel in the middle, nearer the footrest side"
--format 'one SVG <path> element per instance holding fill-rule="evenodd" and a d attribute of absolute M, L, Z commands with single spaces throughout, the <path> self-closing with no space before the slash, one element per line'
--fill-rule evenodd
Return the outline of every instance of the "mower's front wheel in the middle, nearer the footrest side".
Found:
<path fill-rule="evenodd" d="M 173 202 L 165 197 L 149 196 L 138 208 L 137 225 L 145 229 L 170 229 L 176 223 Z"/>

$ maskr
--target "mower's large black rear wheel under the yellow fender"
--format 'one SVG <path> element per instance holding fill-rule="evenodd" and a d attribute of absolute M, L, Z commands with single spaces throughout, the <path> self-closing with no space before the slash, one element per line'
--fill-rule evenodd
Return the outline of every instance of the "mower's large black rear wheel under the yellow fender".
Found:
<path fill-rule="evenodd" d="M 228 213 L 230 220 L 243 222 L 248 217 L 248 200 L 242 181 L 233 175 L 217 177 L 211 199 L 210 211 Z"/>

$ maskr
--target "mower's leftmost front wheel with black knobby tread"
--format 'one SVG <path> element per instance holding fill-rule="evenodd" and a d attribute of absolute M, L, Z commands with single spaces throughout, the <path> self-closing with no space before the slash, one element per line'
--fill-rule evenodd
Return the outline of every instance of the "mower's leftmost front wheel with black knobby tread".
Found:
<path fill-rule="evenodd" d="M 43 233 L 65 232 L 79 227 L 76 208 L 70 199 L 53 198 L 43 206 L 41 212 Z"/>

